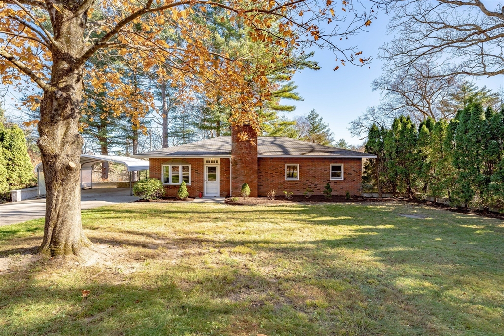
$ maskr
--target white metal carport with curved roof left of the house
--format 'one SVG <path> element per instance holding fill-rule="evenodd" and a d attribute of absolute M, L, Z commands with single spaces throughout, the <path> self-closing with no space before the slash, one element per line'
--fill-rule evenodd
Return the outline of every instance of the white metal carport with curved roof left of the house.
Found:
<path fill-rule="evenodd" d="M 81 189 L 93 188 L 92 170 L 94 165 L 102 162 L 120 163 L 126 167 L 130 175 L 130 193 L 132 191 L 132 171 L 141 171 L 149 169 L 149 161 L 130 158 L 127 156 L 110 155 L 81 155 Z M 35 173 L 38 179 L 38 197 L 45 195 L 45 178 L 42 163 L 35 166 Z"/>

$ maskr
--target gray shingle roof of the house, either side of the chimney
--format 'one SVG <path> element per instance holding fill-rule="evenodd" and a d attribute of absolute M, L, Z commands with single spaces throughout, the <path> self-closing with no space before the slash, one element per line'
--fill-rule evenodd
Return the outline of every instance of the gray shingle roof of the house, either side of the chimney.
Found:
<path fill-rule="evenodd" d="M 184 144 L 175 147 L 163 148 L 151 152 L 141 153 L 135 157 L 184 157 L 184 156 L 230 156 L 231 137 L 217 137 L 198 141 L 191 144 Z M 374 156 L 351 151 L 348 149 L 336 148 L 313 144 L 297 139 L 284 137 L 259 137 L 259 156 L 343 156 L 373 158 Z"/>

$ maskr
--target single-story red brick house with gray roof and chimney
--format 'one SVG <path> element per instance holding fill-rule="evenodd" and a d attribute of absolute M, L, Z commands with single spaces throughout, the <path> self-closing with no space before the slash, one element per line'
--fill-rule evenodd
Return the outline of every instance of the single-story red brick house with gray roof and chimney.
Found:
<path fill-rule="evenodd" d="M 239 141 L 246 132 L 249 141 Z M 248 125 L 234 127 L 230 137 L 217 137 L 135 155 L 149 159 L 149 176 L 163 181 L 175 196 L 185 181 L 191 196 L 239 196 L 247 183 L 250 196 L 283 190 L 302 195 L 307 188 L 322 195 L 329 182 L 333 194 L 360 194 L 362 159 L 374 156 L 284 137 L 258 137 Z"/>

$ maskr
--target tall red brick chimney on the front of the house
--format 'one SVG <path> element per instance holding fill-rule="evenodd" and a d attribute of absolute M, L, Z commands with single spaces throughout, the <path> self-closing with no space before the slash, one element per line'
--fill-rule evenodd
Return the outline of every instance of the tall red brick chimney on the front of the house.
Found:
<path fill-rule="evenodd" d="M 239 133 L 245 133 L 248 140 L 240 141 Z M 254 141 L 254 145 L 250 144 Z M 257 173 L 257 132 L 250 125 L 231 128 L 231 190 L 233 196 L 240 196 L 243 183 L 250 188 L 250 197 L 258 194 Z"/>

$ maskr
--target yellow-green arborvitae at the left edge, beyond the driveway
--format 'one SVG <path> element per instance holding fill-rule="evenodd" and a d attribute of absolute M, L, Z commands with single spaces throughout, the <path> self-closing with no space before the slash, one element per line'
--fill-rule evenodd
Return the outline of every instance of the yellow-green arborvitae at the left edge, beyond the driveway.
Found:
<path fill-rule="evenodd" d="M 18 189 L 34 182 L 33 165 L 28 156 L 25 136 L 21 128 L 13 125 L 11 128 L 0 128 L 3 158 L 7 169 L 9 188 Z"/>

